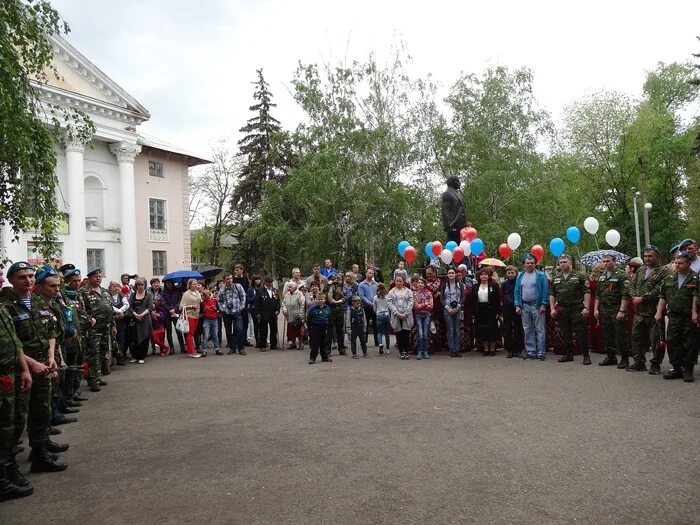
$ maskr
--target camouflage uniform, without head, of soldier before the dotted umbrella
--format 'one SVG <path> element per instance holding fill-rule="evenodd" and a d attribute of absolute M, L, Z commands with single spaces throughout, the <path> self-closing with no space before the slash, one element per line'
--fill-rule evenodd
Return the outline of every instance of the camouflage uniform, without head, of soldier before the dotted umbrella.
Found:
<path fill-rule="evenodd" d="M 598 277 L 596 298 L 599 301 L 598 320 L 603 333 L 605 353 L 611 359 L 617 359 L 617 353 L 623 361 L 629 359 L 629 340 L 627 339 L 626 320 L 617 320 L 623 299 L 630 299 L 630 282 L 627 272 L 617 270 L 612 274 L 602 273 Z"/>

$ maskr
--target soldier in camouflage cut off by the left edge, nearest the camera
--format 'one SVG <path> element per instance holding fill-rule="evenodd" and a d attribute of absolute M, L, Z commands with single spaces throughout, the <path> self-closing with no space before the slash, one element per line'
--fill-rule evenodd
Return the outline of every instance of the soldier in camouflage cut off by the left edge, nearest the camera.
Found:
<path fill-rule="evenodd" d="M 32 376 L 17 339 L 12 317 L 0 306 L 0 501 L 22 498 L 34 488 L 19 472 L 15 461 L 18 414 L 16 397 L 32 386 Z"/>

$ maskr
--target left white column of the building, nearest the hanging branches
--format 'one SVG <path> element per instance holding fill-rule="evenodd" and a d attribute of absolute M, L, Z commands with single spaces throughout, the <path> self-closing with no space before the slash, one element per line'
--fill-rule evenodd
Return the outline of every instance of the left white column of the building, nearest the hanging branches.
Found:
<path fill-rule="evenodd" d="M 63 246 L 63 262 L 74 264 L 83 274 L 87 265 L 87 236 L 85 234 L 85 145 L 71 141 L 66 145 L 66 182 L 68 185 L 69 240 Z"/>

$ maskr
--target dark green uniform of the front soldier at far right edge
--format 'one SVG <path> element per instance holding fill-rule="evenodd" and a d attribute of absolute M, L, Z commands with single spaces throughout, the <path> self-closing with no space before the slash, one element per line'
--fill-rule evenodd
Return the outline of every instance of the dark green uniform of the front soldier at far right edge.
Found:
<path fill-rule="evenodd" d="M 661 284 L 660 296 L 666 301 L 668 315 L 668 360 L 678 372 L 690 370 L 692 374 L 697 359 L 697 328 L 691 320 L 697 293 L 698 274 L 692 270 L 686 276 L 673 272 Z"/>

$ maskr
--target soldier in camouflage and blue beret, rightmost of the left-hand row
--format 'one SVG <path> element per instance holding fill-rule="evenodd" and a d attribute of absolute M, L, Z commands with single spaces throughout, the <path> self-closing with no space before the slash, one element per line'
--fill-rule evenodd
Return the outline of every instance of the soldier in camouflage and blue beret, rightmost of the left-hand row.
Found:
<path fill-rule="evenodd" d="M 92 392 L 99 392 L 100 387 L 107 386 L 102 374 L 109 371 L 110 337 L 116 336 L 112 299 L 101 284 L 102 269 L 93 268 L 88 272 L 87 286 L 80 290 L 88 315 L 85 359 L 88 362 L 88 385 Z"/>

